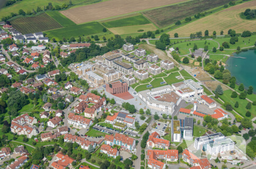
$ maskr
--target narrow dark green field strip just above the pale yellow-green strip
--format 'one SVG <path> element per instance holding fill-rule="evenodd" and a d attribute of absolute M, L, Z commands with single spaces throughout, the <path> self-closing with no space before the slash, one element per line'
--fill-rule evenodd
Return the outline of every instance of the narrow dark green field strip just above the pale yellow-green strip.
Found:
<path fill-rule="evenodd" d="M 146 17 L 144 17 L 143 15 L 137 15 L 137 16 L 127 17 L 127 18 L 122 18 L 120 20 L 103 22 L 102 24 L 105 27 L 110 28 L 110 27 L 121 27 L 121 26 L 131 26 L 131 25 L 144 25 L 149 23 L 151 22 L 148 21 Z"/>

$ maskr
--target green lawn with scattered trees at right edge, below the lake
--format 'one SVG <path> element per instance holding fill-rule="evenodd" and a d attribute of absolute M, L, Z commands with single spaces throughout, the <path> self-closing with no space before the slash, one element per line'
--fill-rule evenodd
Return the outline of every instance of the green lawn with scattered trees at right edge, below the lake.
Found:
<path fill-rule="evenodd" d="M 246 109 L 246 105 L 248 104 L 247 100 L 243 100 L 243 99 L 239 99 L 239 97 L 237 96 L 237 98 L 231 98 L 231 93 L 232 90 L 225 90 L 223 95 L 220 95 L 219 98 L 222 99 L 225 102 L 229 102 L 233 109 L 238 112 L 241 116 L 246 117 L 245 113 L 247 111 L 250 111 L 252 116 L 248 117 L 250 119 L 252 119 L 253 117 L 256 116 L 256 106 L 252 105 L 252 108 L 250 110 Z M 239 107 L 235 108 L 235 102 L 239 102 Z"/>

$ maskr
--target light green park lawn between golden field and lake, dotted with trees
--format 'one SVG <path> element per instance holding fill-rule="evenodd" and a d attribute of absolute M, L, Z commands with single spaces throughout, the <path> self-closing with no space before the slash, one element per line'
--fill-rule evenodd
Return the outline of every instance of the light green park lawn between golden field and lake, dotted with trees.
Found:
<path fill-rule="evenodd" d="M 206 42 L 206 44 L 205 44 Z M 185 55 L 185 54 L 189 54 L 189 49 L 192 48 L 194 44 L 197 45 L 197 48 L 203 48 L 205 47 L 205 45 L 208 45 L 208 50 L 211 50 L 212 48 L 216 47 L 218 48 L 218 43 L 211 41 L 211 40 L 199 40 L 199 41 L 189 41 L 189 42 L 180 42 L 180 43 L 176 43 L 172 45 L 172 48 L 179 48 L 179 52 L 180 55 Z M 191 52 L 193 52 L 193 50 L 191 49 Z"/>

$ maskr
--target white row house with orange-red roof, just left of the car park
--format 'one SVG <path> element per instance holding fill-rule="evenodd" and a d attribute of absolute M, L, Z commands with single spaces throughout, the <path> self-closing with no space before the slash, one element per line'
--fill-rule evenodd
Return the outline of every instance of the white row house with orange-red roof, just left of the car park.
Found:
<path fill-rule="evenodd" d="M 73 113 L 69 113 L 68 115 L 68 124 L 72 124 L 73 126 L 87 128 L 93 124 L 93 120 L 84 118 L 83 116 L 75 115 Z"/>

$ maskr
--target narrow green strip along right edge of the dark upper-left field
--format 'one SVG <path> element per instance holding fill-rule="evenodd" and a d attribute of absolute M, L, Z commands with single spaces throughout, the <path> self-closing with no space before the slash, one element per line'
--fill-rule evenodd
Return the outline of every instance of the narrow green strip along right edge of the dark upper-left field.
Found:
<path fill-rule="evenodd" d="M 69 18 L 59 13 L 58 11 L 50 11 L 46 13 L 64 27 L 75 25 L 73 21 L 69 20 Z"/>

